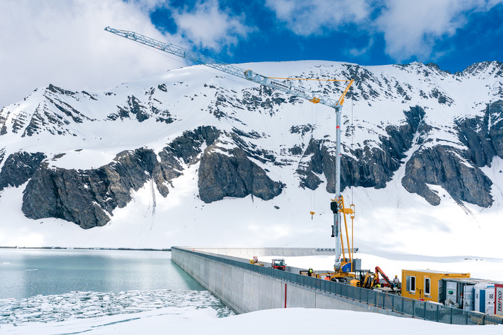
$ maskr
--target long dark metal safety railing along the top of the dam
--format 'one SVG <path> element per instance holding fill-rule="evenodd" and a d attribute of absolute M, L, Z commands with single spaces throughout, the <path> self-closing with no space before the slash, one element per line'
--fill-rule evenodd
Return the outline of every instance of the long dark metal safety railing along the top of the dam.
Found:
<path fill-rule="evenodd" d="M 330 280 L 323 280 L 319 278 L 303 276 L 301 274 L 294 274 L 292 272 L 281 271 L 272 269 L 270 267 L 260 267 L 258 265 L 250 264 L 249 262 L 242 262 L 233 260 L 215 254 L 204 253 L 201 251 L 191 251 L 181 247 L 172 247 L 177 251 L 196 254 L 202 258 L 221 262 L 233 267 L 246 269 L 265 276 L 271 276 L 277 279 L 286 280 L 298 285 L 304 285 L 336 294 L 345 298 L 357 300 L 361 303 L 377 306 L 385 309 L 390 309 L 394 312 L 412 316 L 415 318 L 422 318 L 424 320 L 435 321 L 439 323 L 448 323 L 451 325 L 501 325 L 503 318 L 494 315 L 488 315 L 478 312 L 469 312 L 455 307 L 448 307 L 436 303 L 428 303 L 427 301 L 419 301 L 411 298 L 404 298 L 395 294 L 387 294 L 380 291 L 371 289 L 363 289 L 361 287 L 354 287 L 347 284 L 336 283 Z"/>

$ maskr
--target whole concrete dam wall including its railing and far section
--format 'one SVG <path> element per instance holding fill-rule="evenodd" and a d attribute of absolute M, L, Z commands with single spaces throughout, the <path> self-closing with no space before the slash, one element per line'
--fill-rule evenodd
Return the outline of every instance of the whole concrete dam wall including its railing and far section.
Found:
<path fill-rule="evenodd" d="M 452 325 L 498 325 L 503 319 L 479 312 L 363 289 L 330 280 L 250 264 L 249 255 L 306 256 L 327 249 L 171 249 L 171 259 L 236 313 L 260 309 L 304 307 L 345 309 L 393 316 L 421 318 Z M 221 254 L 211 253 L 208 251 Z M 248 256 L 240 258 L 239 256 Z M 290 270 L 290 271 L 289 271 Z"/>

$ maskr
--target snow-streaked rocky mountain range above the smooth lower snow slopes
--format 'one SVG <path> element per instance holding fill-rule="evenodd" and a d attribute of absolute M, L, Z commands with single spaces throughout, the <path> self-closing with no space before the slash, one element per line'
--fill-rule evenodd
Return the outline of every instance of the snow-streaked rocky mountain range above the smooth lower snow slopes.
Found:
<path fill-rule="evenodd" d="M 343 119 L 341 189 L 385 188 L 405 166 L 404 189 L 432 205 L 442 199 L 430 185 L 460 204 L 493 204 L 493 182 L 481 168 L 503 158 L 502 63 L 475 64 L 454 75 L 435 64 L 303 66 L 289 75 L 355 79 L 346 105 L 351 98 L 361 112 L 354 120 L 346 112 Z M 293 117 L 305 102 L 268 88 L 234 88 L 218 76 L 201 82 L 194 79 L 200 73 L 185 71 L 147 88 L 124 84 L 102 94 L 50 85 L 23 104 L 6 106 L 0 136 L 11 144 L 0 148 L 0 191 L 26 184 L 22 211 L 28 218 L 61 218 L 84 229 L 109 222 L 114 209 L 129 204 L 131 192 L 147 182 L 169 196 L 173 180 L 194 165 L 198 197 L 207 204 L 247 195 L 271 200 L 291 187 L 334 193 L 333 129 L 316 137 L 323 125 Z M 466 90 L 480 82 L 490 99 L 473 97 L 466 106 L 464 91 L 453 95 L 453 87 Z M 338 96 L 343 87 L 319 82 L 307 88 Z M 122 130 L 126 126 L 131 132 Z M 117 144 L 111 142 L 120 132 L 149 140 L 91 169 L 57 165 L 82 143 Z M 77 144 L 39 142 L 57 137 Z M 149 144 L 159 141 L 164 144 L 157 149 Z M 40 149 L 26 151 L 27 144 Z M 294 175 L 295 184 L 285 174 Z"/>

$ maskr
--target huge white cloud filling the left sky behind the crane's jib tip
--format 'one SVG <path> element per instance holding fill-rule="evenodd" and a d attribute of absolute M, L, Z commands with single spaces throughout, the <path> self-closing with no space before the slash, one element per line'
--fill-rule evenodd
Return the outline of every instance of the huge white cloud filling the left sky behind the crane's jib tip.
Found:
<path fill-rule="evenodd" d="M 48 84 L 104 90 L 180 67 L 104 31 L 111 26 L 166 40 L 149 18 L 155 6 L 150 0 L 0 1 L 0 108 Z"/>

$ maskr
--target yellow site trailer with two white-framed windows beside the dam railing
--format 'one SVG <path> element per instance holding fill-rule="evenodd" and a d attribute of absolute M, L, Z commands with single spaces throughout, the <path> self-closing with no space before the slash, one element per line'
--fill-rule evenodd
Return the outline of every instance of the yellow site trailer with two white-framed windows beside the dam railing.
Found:
<path fill-rule="evenodd" d="M 401 270 L 401 295 L 416 300 L 442 303 L 439 295 L 439 281 L 442 278 L 470 278 L 470 274 L 435 270 Z"/>

